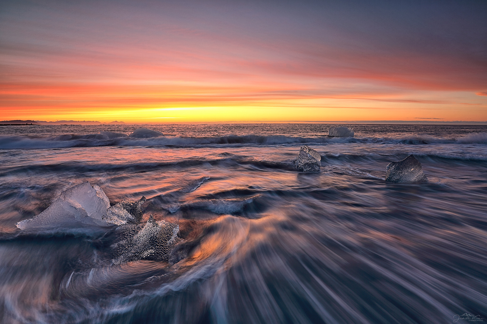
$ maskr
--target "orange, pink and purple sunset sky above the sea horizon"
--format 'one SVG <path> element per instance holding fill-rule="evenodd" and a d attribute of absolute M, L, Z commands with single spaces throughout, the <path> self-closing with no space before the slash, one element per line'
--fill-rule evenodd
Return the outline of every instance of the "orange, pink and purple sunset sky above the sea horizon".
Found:
<path fill-rule="evenodd" d="M 0 9 L 0 120 L 487 120 L 485 0 Z"/>

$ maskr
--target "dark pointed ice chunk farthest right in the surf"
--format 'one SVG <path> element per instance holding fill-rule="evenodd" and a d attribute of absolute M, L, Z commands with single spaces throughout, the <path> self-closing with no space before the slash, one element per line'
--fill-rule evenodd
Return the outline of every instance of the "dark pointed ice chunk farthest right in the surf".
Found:
<path fill-rule="evenodd" d="M 386 167 L 386 181 L 390 182 L 422 182 L 428 178 L 421 169 L 421 163 L 409 155 L 403 160 L 391 162 Z"/>

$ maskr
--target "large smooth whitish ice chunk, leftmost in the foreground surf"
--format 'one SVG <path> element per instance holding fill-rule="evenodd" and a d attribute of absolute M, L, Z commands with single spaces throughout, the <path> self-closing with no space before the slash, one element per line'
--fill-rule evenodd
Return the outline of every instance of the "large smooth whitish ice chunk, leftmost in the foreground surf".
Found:
<path fill-rule="evenodd" d="M 109 225 L 102 219 L 110 201 L 98 186 L 83 182 L 61 192 L 52 205 L 31 219 L 16 223 L 20 229 Z"/>

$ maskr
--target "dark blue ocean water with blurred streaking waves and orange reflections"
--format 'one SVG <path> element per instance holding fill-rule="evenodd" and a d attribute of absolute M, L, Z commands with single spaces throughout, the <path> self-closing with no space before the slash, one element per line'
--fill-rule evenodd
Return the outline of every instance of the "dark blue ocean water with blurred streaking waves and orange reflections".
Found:
<path fill-rule="evenodd" d="M 0 126 L 0 323 L 487 322 L 487 125 L 330 126 Z M 99 134 L 137 127 L 164 136 Z M 428 182 L 386 182 L 409 154 Z M 99 229 L 16 227 L 85 181 L 145 196 L 187 256 L 112 264 Z"/>

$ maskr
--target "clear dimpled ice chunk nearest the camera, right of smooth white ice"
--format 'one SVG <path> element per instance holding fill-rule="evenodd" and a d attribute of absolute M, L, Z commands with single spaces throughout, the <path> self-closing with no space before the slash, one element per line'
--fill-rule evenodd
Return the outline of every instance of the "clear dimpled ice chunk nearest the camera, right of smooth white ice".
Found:
<path fill-rule="evenodd" d="M 174 244 L 180 240 L 178 231 L 178 224 L 156 222 L 152 215 L 143 225 L 121 225 L 115 229 L 121 240 L 111 246 L 112 262 L 168 260 Z"/>

